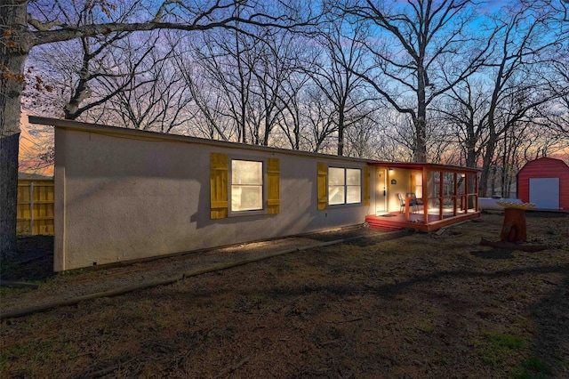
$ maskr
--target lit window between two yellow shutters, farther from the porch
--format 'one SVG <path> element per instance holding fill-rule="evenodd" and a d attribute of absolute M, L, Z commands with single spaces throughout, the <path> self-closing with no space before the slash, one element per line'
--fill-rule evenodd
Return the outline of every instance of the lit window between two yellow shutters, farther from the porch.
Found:
<path fill-rule="evenodd" d="M 263 209 L 263 163 L 231 160 L 231 211 Z"/>

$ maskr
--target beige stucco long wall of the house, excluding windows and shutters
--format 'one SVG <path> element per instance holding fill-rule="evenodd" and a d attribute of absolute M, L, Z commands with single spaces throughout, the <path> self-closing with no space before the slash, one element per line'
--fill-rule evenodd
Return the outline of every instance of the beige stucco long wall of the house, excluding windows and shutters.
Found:
<path fill-rule="evenodd" d="M 59 127 L 55 140 L 55 270 L 354 225 L 375 209 L 372 196 L 317 210 L 317 162 L 365 167 L 356 159 Z M 279 158 L 280 213 L 211 220 L 210 152 Z"/>

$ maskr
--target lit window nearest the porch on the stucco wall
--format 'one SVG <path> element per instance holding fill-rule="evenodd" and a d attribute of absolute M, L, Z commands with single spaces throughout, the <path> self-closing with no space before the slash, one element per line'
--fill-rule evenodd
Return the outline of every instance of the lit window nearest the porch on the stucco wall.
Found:
<path fill-rule="evenodd" d="M 357 204 L 362 201 L 362 170 L 328 168 L 328 204 Z"/>

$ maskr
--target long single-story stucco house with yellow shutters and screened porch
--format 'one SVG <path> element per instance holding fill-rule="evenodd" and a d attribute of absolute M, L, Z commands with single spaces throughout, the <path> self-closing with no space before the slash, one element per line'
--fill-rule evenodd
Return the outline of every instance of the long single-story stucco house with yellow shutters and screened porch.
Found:
<path fill-rule="evenodd" d="M 55 127 L 57 271 L 365 222 L 436 230 L 479 215 L 476 169 L 29 122 Z"/>

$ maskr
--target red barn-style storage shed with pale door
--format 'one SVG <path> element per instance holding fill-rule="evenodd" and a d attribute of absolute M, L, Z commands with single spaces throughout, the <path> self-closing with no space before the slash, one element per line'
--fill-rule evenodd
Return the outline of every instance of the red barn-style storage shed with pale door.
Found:
<path fill-rule="evenodd" d="M 526 163 L 517 173 L 517 198 L 535 209 L 569 211 L 569 166 L 550 157 Z"/>

